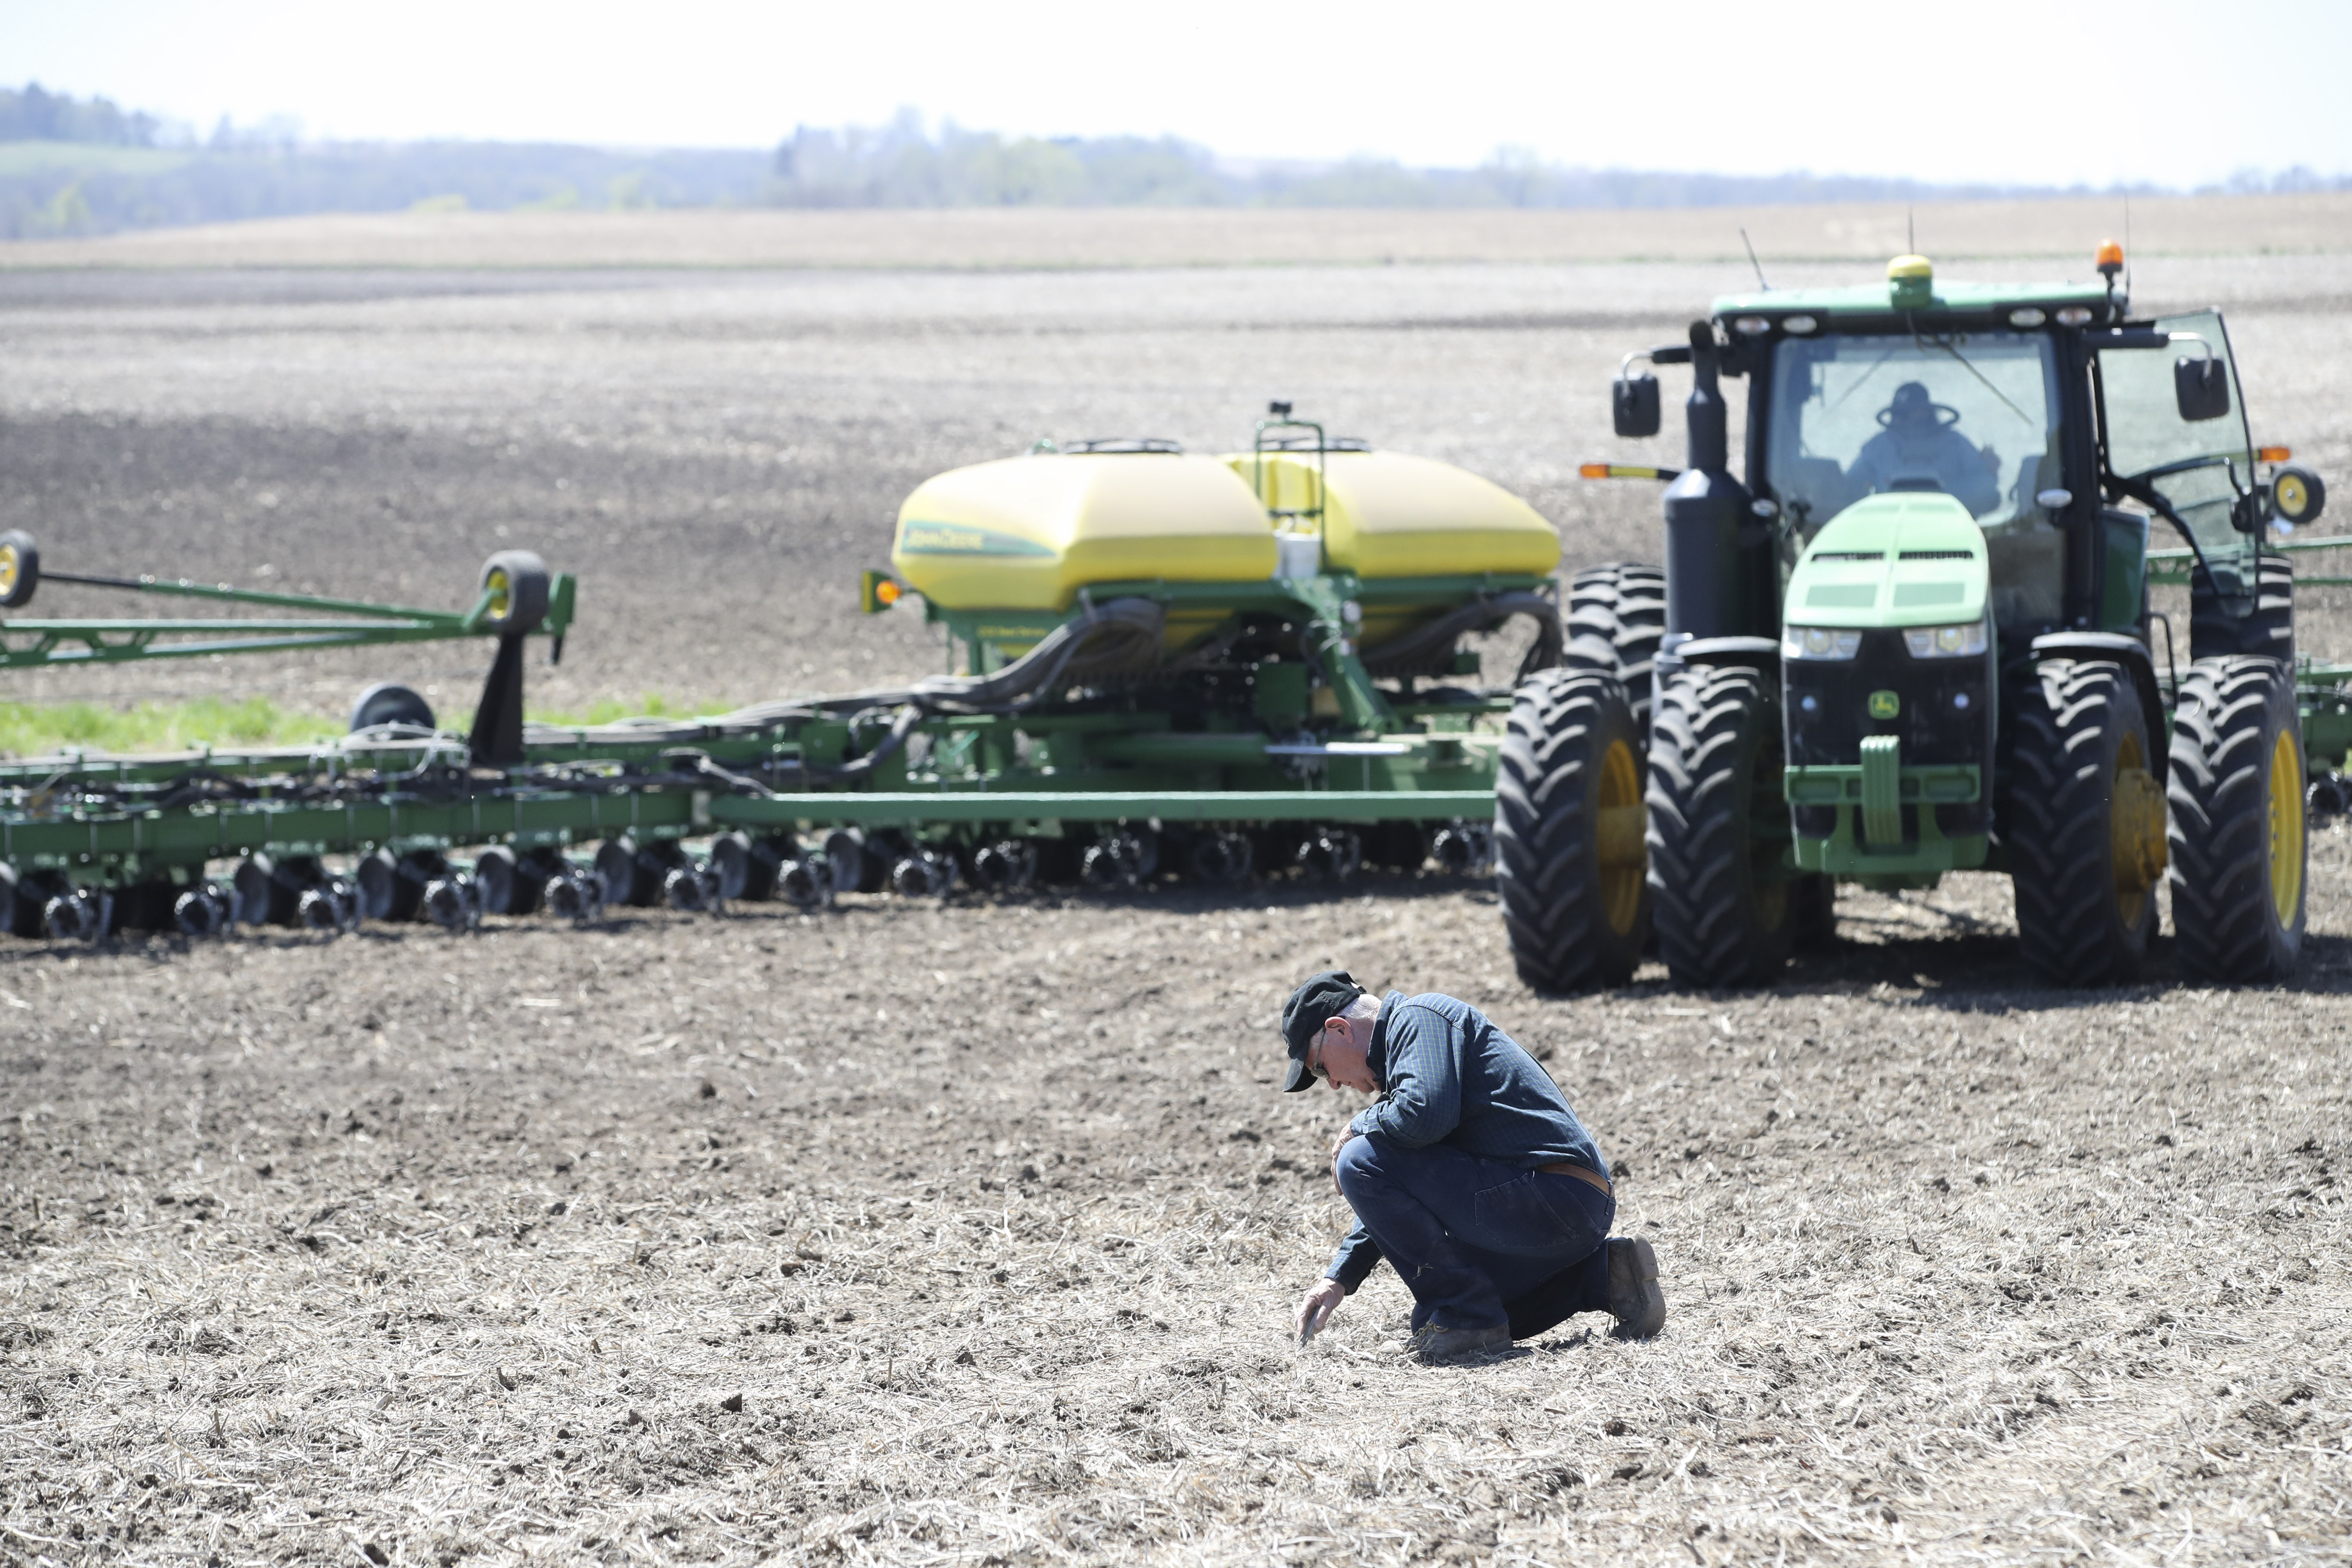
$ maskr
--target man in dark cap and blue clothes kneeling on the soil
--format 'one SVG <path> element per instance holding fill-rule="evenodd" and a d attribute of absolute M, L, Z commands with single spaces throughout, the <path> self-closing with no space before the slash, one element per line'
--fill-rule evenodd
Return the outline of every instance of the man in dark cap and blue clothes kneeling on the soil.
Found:
<path fill-rule="evenodd" d="M 1411 1349 L 1461 1361 L 1576 1312 L 1625 1338 L 1665 1326 L 1658 1255 L 1609 1237 L 1616 1194 L 1592 1133 L 1536 1058 L 1468 1001 L 1374 1001 L 1329 969 L 1282 1009 L 1284 1091 L 1378 1095 L 1331 1145 L 1355 1232 L 1298 1302 L 1310 1340 L 1381 1258 L 1414 1293 Z"/>

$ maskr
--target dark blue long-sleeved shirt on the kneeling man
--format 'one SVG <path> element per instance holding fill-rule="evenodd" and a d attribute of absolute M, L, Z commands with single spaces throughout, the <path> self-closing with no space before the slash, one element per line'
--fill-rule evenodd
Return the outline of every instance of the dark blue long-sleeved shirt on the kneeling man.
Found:
<path fill-rule="evenodd" d="M 1449 1143 L 1519 1171 L 1573 1161 L 1609 1173 L 1552 1074 L 1468 1001 L 1388 992 L 1367 1065 L 1381 1098 L 1348 1124 L 1350 1133 L 1409 1150 Z M 1324 1276 L 1355 1291 L 1378 1262 L 1378 1244 L 1357 1225 Z"/>

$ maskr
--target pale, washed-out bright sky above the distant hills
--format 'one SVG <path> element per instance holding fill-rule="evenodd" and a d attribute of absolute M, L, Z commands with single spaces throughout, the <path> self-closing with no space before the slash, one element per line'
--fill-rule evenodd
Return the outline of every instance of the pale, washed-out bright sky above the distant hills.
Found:
<path fill-rule="evenodd" d="M 2352 174 L 2347 0 L 0 0 L 0 82 L 313 139 L 774 146 L 901 108 L 1240 160 Z"/>

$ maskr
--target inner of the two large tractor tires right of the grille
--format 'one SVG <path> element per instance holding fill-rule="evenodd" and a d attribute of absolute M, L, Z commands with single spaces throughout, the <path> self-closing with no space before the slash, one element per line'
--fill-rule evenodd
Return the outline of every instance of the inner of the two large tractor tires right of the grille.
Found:
<path fill-rule="evenodd" d="M 2157 929 L 2164 795 L 2124 665 L 2051 658 L 2011 689 L 2002 846 L 2025 966 L 2051 985 L 2122 985 Z"/>

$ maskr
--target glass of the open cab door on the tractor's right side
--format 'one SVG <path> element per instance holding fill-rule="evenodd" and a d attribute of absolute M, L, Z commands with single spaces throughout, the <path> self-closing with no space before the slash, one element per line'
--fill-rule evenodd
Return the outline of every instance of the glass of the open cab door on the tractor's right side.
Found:
<path fill-rule="evenodd" d="M 2230 360 L 2230 334 L 2218 310 L 2176 315 L 2157 327 L 2194 334 L 2218 360 Z M 2204 348 L 2183 341 L 2171 350 L 2122 348 L 2098 357 L 2107 468 L 2164 496 L 2213 571 L 2216 588 L 2246 592 L 2253 585 L 2256 538 L 2239 534 L 2230 517 L 2244 487 L 2253 484 L 2237 367 L 2230 367 L 2230 411 L 2220 418 L 2185 421 L 2173 397 L 2173 362 L 2201 355 Z"/>

